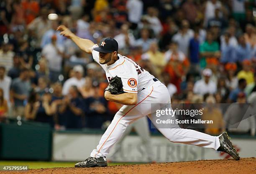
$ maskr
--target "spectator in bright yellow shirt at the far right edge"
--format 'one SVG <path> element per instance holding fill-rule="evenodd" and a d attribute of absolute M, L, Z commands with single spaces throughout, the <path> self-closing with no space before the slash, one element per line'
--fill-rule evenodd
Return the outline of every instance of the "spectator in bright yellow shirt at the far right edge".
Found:
<path fill-rule="evenodd" d="M 246 79 L 246 84 L 252 84 L 254 82 L 253 71 L 251 69 L 251 61 L 243 61 L 243 69 L 237 74 L 238 79 Z"/>

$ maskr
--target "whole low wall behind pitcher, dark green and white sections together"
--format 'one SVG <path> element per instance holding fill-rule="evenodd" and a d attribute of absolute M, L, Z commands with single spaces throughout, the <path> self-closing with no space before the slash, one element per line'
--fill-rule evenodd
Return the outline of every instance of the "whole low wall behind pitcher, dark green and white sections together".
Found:
<path fill-rule="evenodd" d="M 94 149 L 103 134 L 102 130 L 53 131 L 48 124 L 23 122 L 0 123 L 1 160 L 40 161 L 82 161 Z M 256 137 L 231 136 L 241 157 L 256 156 Z M 151 136 L 154 161 L 193 161 L 200 159 L 224 159 L 213 149 L 180 143 L 170 143 L 161 135 Z M 127 136 L 120 153 L 114 153 L 114 146 L 108 159 L 117 162 L 148 162 L 147 154 L 138 136 Z M 115 156 L 112 156 L 115 154 Z M 112 158 L 110 158 L 112 156 Z"/>

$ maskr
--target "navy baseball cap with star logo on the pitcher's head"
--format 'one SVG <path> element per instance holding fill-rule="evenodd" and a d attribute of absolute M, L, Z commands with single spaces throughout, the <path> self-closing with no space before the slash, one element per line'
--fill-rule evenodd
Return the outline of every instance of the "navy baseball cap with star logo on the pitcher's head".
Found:
<path fill-rule="evenodd" d="M 111 53 L 118 51 L 118 42 L 113 38 L 103 38 L 100 46 L 94 48 L 94 50 L 101 53 Z"/>

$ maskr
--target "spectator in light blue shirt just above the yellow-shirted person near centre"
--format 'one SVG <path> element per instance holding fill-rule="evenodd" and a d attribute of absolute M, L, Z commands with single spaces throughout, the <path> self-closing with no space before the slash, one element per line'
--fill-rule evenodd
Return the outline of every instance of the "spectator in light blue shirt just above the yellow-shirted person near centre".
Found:
<path fill-rule="evenodd" d="M 149 38 L 149 31 L 146 28 L 141 29 L 141 38 L 137 39 L 135 42 L 135 46 L 141 46 L 143 52 L 148 51 L 150 44 L 154 41 L 154 39 Z"/>

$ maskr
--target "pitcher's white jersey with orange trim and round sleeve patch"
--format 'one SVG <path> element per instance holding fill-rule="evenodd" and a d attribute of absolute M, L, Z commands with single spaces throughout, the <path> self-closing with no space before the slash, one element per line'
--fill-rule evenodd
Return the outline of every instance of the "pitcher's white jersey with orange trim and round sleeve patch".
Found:
<path fill-rule="evenodd" d="M 92 56 L 93 59 L 100 64 L 99 52 L 93 50 L 93 48 L 96 47 L 98 47 L 97 44 L 92 47 Z M 124 92 L 137 93 L 146 87 L 146 84 L 150 80 L 155 78 L 131 59 L 120 54 L 118 54 L 118 57 L 119 59 L 114 64 L 100 64 L 100 66 L 105 70 L 108 82 L 115 76 L 122 79 Z"/>

